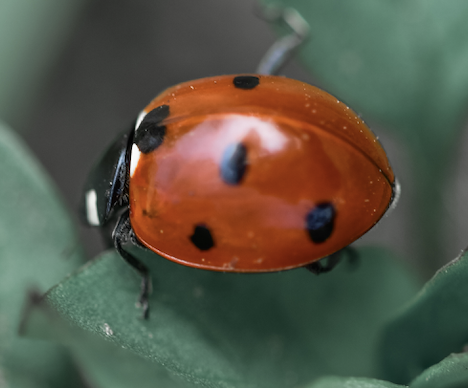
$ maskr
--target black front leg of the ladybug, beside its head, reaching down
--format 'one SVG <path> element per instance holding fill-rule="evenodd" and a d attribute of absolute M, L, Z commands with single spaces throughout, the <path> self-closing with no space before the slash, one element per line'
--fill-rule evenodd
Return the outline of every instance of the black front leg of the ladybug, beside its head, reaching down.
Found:
<path fill-rule="evenodd" d="M 126 252 L 122 245 L 125 245 L 130 242 L 136 244 L 136 238 L 133 233 L 132 225 L 130 224 L 129 210 L 126 210 L 119 218 L 117 225 L 112 233 L 112 238 L 114 240 L 115 249 L 119 252 L 119 255 L 130 264 L 141 276 L 141 286 L 140 286 L 140 297 L 139 303 L 143 308 L 143 318 L 148 319 L 149 317 L 149 294 L 151 292 L 151 277 L 148 270 L 148 267 L 144 265 L 140 260 Z"/>

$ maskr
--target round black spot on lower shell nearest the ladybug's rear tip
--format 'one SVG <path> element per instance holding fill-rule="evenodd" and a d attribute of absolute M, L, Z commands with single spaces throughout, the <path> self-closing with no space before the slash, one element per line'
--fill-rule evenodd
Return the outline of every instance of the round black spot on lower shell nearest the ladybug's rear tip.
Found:
<path fill-rule="evenodd" d="M 314 243 L 322 243 L 333 232 L 335 207 L 330 202 L 318 204 L 306 216 L 306 229 Z"/>

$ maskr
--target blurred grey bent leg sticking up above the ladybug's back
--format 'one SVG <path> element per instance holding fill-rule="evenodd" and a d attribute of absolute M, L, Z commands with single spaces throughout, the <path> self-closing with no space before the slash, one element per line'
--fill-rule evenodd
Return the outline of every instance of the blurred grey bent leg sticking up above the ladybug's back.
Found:
<path fill-rule="evenodd" d="M 291 7 L 258 6 L 256 14 L 267 22 L 282 21 L 292 30 L 289 35 L 273 43 L 257 67 L 258 74 L 276 74 L 291 59 L 294 50 L 308 37 L 309 24 Z"/>

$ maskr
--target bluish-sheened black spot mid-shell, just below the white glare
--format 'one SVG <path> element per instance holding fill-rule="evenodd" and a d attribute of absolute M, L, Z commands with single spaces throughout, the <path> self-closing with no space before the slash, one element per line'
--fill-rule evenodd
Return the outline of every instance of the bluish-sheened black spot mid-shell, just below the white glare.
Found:
<path fill-rule="evenodd" d="M 228 185 L 238 185 L 247 169 L 247 148 L 242 143 L 230 144 L 224 150 L 219 166 L 221 178 Z"/>

